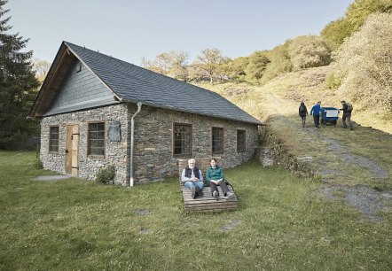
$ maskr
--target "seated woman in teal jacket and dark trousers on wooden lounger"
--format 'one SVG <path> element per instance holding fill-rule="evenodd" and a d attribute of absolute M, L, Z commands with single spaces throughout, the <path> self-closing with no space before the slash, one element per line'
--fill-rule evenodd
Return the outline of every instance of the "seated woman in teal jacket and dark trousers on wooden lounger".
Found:
<path fill-rule="evenodd" d="M 216 165 L 216 159 L 213 158 L 210 161 L 211 166 L 207 169 L 206 179 L 207 183 L 209 182 L 209 186 L 211 187 L 212 196 L 219 199 L 219 192 L 217 186 L 219 185 L 222 189 L 223 196 L 226 200 L 231 200 L 234 197 L 234 194 L 229 192 L 227 189 L 227 185 L 224 182 L 224 174 L 223 170 L 220 166 Z"/>

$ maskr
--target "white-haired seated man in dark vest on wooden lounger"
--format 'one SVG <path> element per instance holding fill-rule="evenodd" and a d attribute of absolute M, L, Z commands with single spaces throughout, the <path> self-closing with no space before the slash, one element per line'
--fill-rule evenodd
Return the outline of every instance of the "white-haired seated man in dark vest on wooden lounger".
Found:
<path fill-rule="evenodd" d="M 189 159 L 188 166 L 183 169 L 181 174 L 181 181 L 184 182 L 184 187 L 192 190 L 192 198 L 203 196 L 203 174 L 199 168 L 195 166 L 196 160 Z"/>

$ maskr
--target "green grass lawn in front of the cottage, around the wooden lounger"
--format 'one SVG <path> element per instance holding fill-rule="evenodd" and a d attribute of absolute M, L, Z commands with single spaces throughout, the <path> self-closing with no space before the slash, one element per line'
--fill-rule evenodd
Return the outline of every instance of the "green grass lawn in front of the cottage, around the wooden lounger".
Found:
<path fill-rule="evenodd" d="M 390 270 L 392 215 L 366 221 L 321 183 L 255 162 L 227 170 L 239 211 L 184 213 L 178 179 L 132 189 L 31 181 L 0 151 L 0 270 Z"/>

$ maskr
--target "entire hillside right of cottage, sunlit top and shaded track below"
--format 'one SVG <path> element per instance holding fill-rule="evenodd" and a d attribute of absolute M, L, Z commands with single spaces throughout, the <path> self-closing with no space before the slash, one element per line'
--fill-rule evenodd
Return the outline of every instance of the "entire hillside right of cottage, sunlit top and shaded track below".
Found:
<path fill-rule="evenodd" d="M 390 119 L 383 120 L 379 114 L 362 111 L 354 104 L 353 131 L 343 129 L 341 119 L 336 127 L 314 128 L 311 116 L 306 127 L 301 126 L 298 116 L 301 100 L 310 111 L 318 100 L 324 106 L 336 107 L 344 99 L 325 87 L 325 74 L 332 68 L 284 74 L 263 87 L 221 84 L 210 89 L 263 120 L 267 134 L 278 138 L 279 148 L 309 166 L 325 182 L 324 189 L 319 191 L 325 197 L 346 200 L 366 218 L 378 221 L 379 212 L 392 210 Z"/>

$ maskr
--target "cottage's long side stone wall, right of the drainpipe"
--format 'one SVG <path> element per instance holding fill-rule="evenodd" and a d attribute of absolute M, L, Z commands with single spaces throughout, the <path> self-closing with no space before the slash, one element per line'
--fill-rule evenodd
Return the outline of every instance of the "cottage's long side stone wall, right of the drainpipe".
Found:
<path fill-rule="evenodd" d="M 174 123 L 192 125 L 192 155 L 173 156 Z M 212 153 L 213 127 L 223 128 L 223 153 Z M 246 130 L 245 152 L 237 152 L 237 129 Z M 256 125 L 142 106 L 135 119 L 135 180 L 146 182 L 177 175 L 178 159 L 191 157 L 218 156 L 225 168 L 238 166 L 254 156 L 257 144 Z"/>

